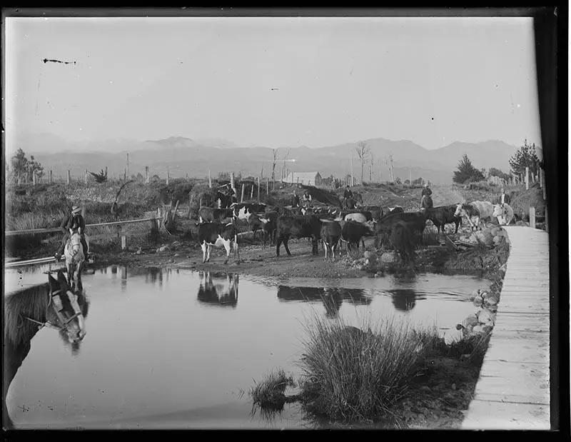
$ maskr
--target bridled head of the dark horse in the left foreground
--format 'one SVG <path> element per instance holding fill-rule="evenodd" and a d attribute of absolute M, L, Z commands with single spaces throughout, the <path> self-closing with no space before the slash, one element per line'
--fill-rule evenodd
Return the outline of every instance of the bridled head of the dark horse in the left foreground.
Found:
<path fill-rule="evenodd" d="M 84 311 L 78 303 L 78 295 L 71 291 L 64 273 L 58 272 L 58 278 L 48 275 L 49 304 L 46 321 L 66 334 L 70 343 L 81 342 L 86 335 Z"/>

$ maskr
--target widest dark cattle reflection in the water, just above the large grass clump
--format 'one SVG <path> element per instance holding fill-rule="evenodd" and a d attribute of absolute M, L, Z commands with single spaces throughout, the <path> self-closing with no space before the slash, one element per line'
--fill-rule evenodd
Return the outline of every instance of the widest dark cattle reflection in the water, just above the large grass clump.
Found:
<path fill-rule="evenodd" d="M 361 288 L 289 287 L 278 286 L 281 301 L 322 301 L 328 317 L 338 316 L 343 300 L 353 304 L 370 304 L 373 301 Z"/>

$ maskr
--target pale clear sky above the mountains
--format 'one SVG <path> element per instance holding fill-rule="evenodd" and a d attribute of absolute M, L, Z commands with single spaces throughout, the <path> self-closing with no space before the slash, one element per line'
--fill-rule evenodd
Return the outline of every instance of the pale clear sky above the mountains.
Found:
<path fill-rule="evenodd" d="M 21 134 L 541 144 L 531 18 L 7 17 L 5 74 L 8 149 Z"/>

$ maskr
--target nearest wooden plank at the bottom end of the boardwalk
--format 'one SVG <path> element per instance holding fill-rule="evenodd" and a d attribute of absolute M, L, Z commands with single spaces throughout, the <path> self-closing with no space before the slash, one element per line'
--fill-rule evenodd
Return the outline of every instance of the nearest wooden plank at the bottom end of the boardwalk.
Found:
<path fill-rule="evenodd" d="M 462 429 L 549 430 L 550 407 L 527 403 L 472 401 Z"/>

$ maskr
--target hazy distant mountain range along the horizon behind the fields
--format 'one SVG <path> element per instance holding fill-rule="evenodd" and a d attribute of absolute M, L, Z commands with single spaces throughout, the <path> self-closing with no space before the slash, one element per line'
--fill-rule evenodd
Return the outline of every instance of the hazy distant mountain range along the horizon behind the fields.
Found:
<path fill-rule="evenodd" d="M 455 141 L 440 149 L 428 150 L 412 141 L 390 141 L 382 138 L 363 140 L 373 154 L 373 179 L 388 180 L 388 165 L 385 159 L 393 154 L 395 176 L 412 179 L 422 176 L 435 184 L 452 183 L 453 171 L 463 154 L 478 169 L 495 167 L 509 171 L 508 160 L 516 146 L 503 141 L 483 141 L 477 144 Z M 55 176 L 83 176 L 84 170 L 100 171 L 108 167 L 110 176 L 123 174 L 126 166 L 126 154 L 129 153 L 129 175 L 145 174 L 145 166 L 149 166 L 151 176 L 157 174 L 166 177 L 168 168 L 171 178 L 203 177 L 211 171 L 213 178 L 218 172 L 241 171 L 243 176 L 271 176 L 273 150 L 267 147 L 239 147 L 231 141 L 222 139 L 188 139 L 171 136 L 168 139 L 155 141 L 98 141 L 84 144 L 71 144 L 56 136 L 44 136 L 34 139 L 33 136 L 20 137 L 18 146 L 26 154 L 34 157 L 44 165 L 44 169 L 52 170 Z M 42 146 L 42 153 L 37 146 Z M 353 174 L 360 178 L 360 160 L 355 152 L 356 143 L 339 144 L 310 149 L 307 146 L 295 148 L 281 147 L 276 162 L 276 178 L 281 176 L 283 167 L 295 172 L 319 171 L 321 176 L 331 174 L 341 177 L 350 173 L 350 152 L 353 151 Z M 49 152 L 49 153 L 46 153 Z M 295 162 L 283 162 L 285 154 Z M 368 161 L 364 166 L 363 176 L 369 179 Z"/>

